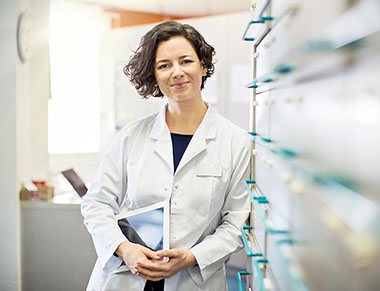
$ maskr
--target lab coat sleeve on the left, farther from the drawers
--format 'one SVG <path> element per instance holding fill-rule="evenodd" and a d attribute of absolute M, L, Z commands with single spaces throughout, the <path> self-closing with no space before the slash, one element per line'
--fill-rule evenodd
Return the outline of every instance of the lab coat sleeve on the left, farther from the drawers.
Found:
<path fill-rule="evenodd" d="M 81 205 L 84 224 L 94 241 L 101 267 L 107 272 L 121 265 L 122 260 L 113 254 L 127 240 L 115 219 L 126 193 L 127 141 L 121 132 L 101 161 Z"/>

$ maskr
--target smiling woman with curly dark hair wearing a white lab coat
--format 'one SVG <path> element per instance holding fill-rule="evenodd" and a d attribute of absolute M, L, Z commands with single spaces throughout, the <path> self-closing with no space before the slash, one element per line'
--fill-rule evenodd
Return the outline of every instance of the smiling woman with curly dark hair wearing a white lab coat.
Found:
<path fill-rule="evenodd" d="M 202 99 L 213 55 L 192 26 L 168 21 L 142 37 L 124 68 L 142 97 L 168 104 L 121 130 L 83 199 L 98 254 L 88 290 L 227 290 L 224 262 L 242 247 L 249 213 L 251 143 Z M 170 249 L 129 242 L 115 215 L 169 199 Z M 123 262 L 131 271 L 113 273 Z"/>

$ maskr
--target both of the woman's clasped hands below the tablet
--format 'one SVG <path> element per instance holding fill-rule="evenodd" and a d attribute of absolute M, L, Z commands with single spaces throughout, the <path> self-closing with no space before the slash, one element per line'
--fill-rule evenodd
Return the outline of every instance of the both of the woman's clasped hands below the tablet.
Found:
<path fill-rule="evenodd" d="M 159 281 L 173 276 L 175 273 L 196 265 L 195 256 L 185 250 L 170 249 L 152 251 L 142 245 L 122 242 L 116 254 L 128 266 L 132 274 L 143 277 L 150 281 Z M 167 262 L 153 262 L 153 260 L 162 260 L 164 257 L 169 258 Z"/>

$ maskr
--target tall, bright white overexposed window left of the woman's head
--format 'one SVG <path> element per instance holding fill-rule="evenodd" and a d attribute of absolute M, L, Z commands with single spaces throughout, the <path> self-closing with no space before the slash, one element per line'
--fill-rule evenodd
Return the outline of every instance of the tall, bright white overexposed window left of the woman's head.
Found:
<path fill-rule="evenodd" d="M 50 153 L 99 150 L 100 7 L 51 1 L 48 147 Z"/>

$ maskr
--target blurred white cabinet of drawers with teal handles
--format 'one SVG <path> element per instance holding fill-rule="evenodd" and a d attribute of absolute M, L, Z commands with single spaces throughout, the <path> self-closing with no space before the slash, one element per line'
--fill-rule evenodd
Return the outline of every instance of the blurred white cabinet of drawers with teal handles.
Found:
<path fill-rule="evenodd" d="M 380 2 L 252 2 L 250 290 L 380 286 Z M 247 60 L 248 61 L 248 60 Z"/>

